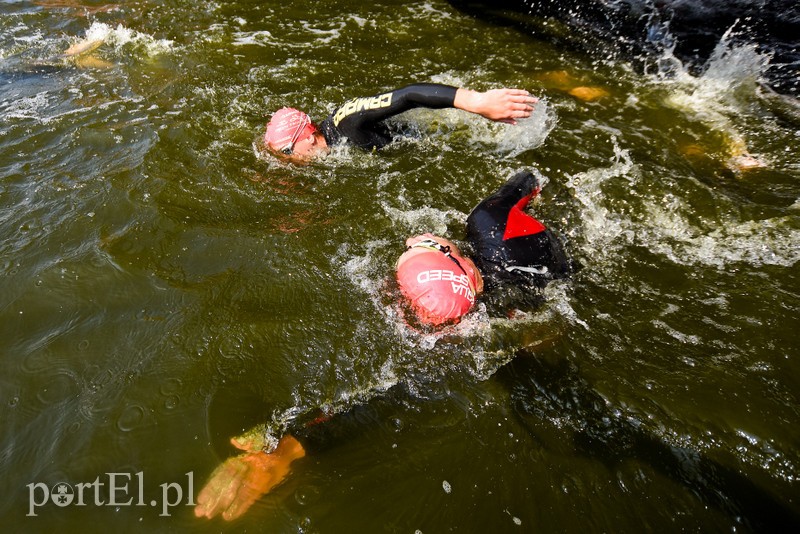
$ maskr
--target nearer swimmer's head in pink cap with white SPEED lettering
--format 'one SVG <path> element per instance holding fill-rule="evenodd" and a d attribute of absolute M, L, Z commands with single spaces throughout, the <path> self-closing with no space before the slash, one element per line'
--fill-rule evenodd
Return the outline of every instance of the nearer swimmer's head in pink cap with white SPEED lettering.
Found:
<path fill-rule="evenodd" d="M 458 322 L 475 304 L 483 280 L 453 243 L 424 234 L 406 240 L 397 260 L 397 282 L 420 322 Z"/>

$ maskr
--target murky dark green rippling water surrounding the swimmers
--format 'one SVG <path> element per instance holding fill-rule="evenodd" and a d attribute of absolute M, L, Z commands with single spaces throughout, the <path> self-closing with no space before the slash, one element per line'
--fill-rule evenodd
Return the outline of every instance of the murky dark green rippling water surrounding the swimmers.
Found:
<path fill-rule="evenodd" d="M 438 0 L 88 7 L 0 4 L 4 531 L 798 521 L 800 120 L 755 83 L 766 57 L 641 74 Z M 87 37 L 92 58 L 56 57 Z M 574 98 L 561 70 L 608 95 Z M 321 119 L 412 81 L 542 102 L 517 127 L 410 112 L 380 154 L 306 167 L 254 151 L 283 105 Z M 730 164 L 737 144 L 764 165 Z M 403 240 L 463 242 L 532 166 L 533 211 L 582 269 L 514 319 L 487 298 L 408 329 Z M 320 406 L 352 408 L 324 450 L 244 518 L 194 517 L 230 436 Z M 95 480 L 84 506 L 33 505 Z"/>

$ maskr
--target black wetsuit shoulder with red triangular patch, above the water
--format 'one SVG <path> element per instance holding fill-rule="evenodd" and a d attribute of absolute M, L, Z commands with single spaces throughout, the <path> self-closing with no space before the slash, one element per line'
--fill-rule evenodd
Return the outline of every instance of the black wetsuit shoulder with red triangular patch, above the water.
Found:
<path fill-rule="evenodd" d="M 467 239 L 487 288 L 502 282 L 543 286 L 572 270 L 559 240 L 525 213 L 540 185 L 529 171 L 515 174 L 467 218 Z"/>

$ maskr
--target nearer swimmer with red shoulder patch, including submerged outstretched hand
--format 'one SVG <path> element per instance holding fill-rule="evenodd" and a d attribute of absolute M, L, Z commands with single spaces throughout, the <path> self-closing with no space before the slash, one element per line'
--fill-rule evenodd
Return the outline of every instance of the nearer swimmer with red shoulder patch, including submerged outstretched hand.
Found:
<path fill-rule="evenodd" d="M 397 278 L 421 323 L 437 326 L 460 320 L 482 292 L 484 278 L 490 286 L 511 282 L 531 288 L 569 274 L 570 264 L 558 240 L 523 211 L 540 187 L 531 172 L 519 172 L 472 210 L 467 237 L 475 263 L 455 244 L 431 234 L 406 241 L 407 249 L 397 261 Z M 320 438 L 314 434 L 325 434 L 320 427 L 327 425 L 315 423 L 325 420 L 287 432 L 270 452 L 265 451 L 259 427 L 233 438 L 231 443 L 244 452 L 211 474 L 198 494 L 195 515 L 239 517 L 288 476 L 291 464 L 304 457 L 309 446 L 316 446 Z"/>

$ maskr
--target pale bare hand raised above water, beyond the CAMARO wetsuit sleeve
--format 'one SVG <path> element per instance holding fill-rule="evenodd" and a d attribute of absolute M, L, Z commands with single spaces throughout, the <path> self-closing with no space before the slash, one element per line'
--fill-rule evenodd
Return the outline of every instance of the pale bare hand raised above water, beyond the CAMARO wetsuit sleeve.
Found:
<path fill-rule="evenodd" d="M 524 89 L 491 89 L 480 93 L 459 88 L 453 106 L 493 121 L 516 124 L 516 119 L 531 116 L 533 106 L 538 101 Z"/>

